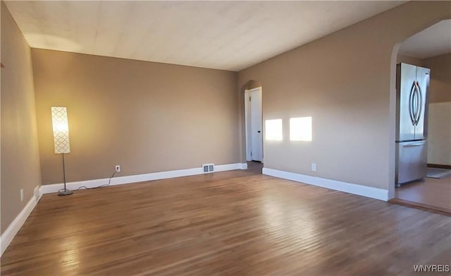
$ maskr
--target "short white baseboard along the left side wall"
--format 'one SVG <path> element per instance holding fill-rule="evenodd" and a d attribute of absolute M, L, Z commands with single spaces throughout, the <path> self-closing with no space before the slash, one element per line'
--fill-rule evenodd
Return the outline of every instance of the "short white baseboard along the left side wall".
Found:
<path fill-rule="evenodd" d="M 36 189 L 39 189 L 39 186 L 36 186 Z M 8 248 L 9 244 L 11 244 L 11 241 L 13 240 L 14 236 L 19 232 L 20 227 L 22 227 L 25 220 L 27 220 L 27 217 L 30 215 L 32 210 L 37 205 L 37 202 L 39 199 L 35 197 L 35 195 L 28 200 L 27 205 L 20 211 L 19 215 L 9 224 L 8 228 L 6 228 L 5 232 L 0 237 L 0 256 L 3 255 L 6 248 Z"/>

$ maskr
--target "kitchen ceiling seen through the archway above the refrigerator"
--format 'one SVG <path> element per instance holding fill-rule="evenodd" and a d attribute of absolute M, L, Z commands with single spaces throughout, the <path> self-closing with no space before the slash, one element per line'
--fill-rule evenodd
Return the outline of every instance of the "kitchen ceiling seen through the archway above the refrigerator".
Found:
<path fill-rule="evenodd" d="M 399 53 L 419 59 L 451 53 L 451 20 L 442 20 L 409 37 L 402 42 Z"/>

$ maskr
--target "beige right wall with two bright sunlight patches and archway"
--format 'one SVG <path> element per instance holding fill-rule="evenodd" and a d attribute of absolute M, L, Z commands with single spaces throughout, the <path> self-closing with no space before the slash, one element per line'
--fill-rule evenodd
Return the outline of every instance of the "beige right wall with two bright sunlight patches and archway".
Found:
<path fill-rule="evenodd" d="M 264 120 L 283 119 L 284 140 L 264 142 L 264 166 L 385 188 L 393 196 L 397 49 L 449 17 L 450 8 L 450 2 L 409 2 L 240 71 L 241 133 L 242 87 L 249 80 L 263 88 Z M 289 119 L 297 116 L 313 117 L 311 142 L 290 142 Z"/>

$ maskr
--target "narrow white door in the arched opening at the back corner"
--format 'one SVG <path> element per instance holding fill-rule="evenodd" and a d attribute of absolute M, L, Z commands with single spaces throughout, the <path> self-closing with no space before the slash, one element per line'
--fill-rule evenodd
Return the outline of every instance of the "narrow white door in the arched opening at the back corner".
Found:
<path fill-rule="evenodd" d="M 251 159 L 263 162 L 263 129 L 261 127 L 261 89 L 250 91 Z"/>

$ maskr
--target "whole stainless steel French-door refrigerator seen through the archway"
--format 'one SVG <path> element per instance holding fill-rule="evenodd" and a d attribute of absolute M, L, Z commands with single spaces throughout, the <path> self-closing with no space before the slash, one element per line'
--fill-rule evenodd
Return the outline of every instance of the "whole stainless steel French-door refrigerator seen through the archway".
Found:
<path fill-rule="evenodd" d="M 427 93 L 431 70 L 397 65 L 396 78 L 396 185 L 426 177 Z"/>

